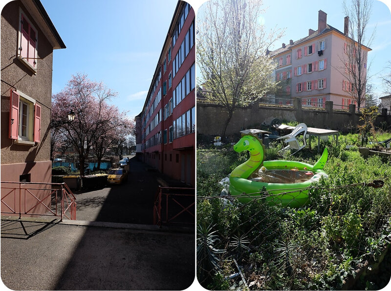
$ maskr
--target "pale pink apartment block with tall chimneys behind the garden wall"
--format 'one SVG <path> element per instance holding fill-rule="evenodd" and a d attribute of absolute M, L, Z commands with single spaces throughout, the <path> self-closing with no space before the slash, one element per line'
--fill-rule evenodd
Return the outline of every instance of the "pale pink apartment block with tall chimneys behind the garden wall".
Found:
<path fill-rule="evenodd" d="M 319 10 L 318 30 L 309 29 L 303 39 L 291 39 L 289 44 L 282 43 L 281 48 L 270 52 L 278 63 L 275 78 L 280 81 L 273 103 L 289 105 L 294 97 L 300 97 L 304 107 L 324 108 L 325 101 L 333 101 L 335 109 L 347 110 L 349 104 L 356 104 L 352 97 L 354 87 L 347 78 L 347 48 L 351 42 L 348 17 L 344 20 L 344 33 L 326 21 L 327 14 Z M 370 48 L 362 49 L 366 70 Z"/>

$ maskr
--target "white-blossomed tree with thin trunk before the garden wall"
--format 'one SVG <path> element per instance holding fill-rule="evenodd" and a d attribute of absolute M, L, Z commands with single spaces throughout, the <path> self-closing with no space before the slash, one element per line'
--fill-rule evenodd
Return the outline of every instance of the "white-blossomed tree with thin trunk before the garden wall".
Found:
<path fill-rule="evenodd" d="M 197 15 L 197 65 L 203 95 L 223 105 L 228 116 L 221 136 L 236 108 L 275 90 L 276 67 L 267 49 L 282 36 L 266 33 L 260 23 L 261 0 L 210 0 Z"/>

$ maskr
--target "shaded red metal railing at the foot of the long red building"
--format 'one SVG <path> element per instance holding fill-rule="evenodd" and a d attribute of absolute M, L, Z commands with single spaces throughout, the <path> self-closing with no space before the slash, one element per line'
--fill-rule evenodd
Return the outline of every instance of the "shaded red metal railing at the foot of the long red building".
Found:
<path fill-rule="evenodd" d="M 194 188 L 178 188 L 178 187 L 160 187 L 157 190 L 155 195 L 155 200 L 153 203 L 153 224 L 161 226 L 162 223 L 189 223 L 189 222 L 175 222 L 174 220 L 178 218 L 182 213 L 188 213 L 191 217 L 195 217 L 194 210 L 192 209 L 195 206 L 195 189 Z M 179 193 L 178 193 L 179 192 Z M 192 194 L 185 194 L 193 192 Z M 162 199 L 162 196 L 165 195 L 165 199 Z M 187 197 L 188 201 L 182 202 L 179 201 L 179 198 Z M 171 200 L 169 200 L 169 198 Z M 165 210 L 165 215 L 162 214 L 162 201 L 165 203 L 163 206 Z M 170 211 L 170 203 L 172 201 L 176 207 L 179 206 L 180 211 L 177 213 L 173 213 L 173 207 L 171 207 Z M 186 203 L 186 204 L 185 204 Z M 169 212 L 172 217 L 169 217 Z M 194 223 L 194 222 L 190 222 Z"/>

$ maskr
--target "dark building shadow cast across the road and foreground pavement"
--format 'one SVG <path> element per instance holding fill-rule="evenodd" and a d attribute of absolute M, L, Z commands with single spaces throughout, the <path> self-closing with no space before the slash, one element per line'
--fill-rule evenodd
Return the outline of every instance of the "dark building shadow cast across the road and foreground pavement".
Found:
<path fill-rule="evenodd" d="M 170 186 L 166 181 L 133 157 L 127 183 L 83 204 L 104 201 L 95 221 L 151 225 L 158 186 Z M 87 227 L 55 290 L 184 290 L 194 279 L 194 232 Z"/>

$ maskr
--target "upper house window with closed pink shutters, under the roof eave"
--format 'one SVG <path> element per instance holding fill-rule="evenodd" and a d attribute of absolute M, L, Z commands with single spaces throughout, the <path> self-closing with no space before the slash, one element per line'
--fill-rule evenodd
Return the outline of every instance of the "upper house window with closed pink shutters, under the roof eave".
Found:
<path fill-rule="evenodd" d="M 35 74 L 37 73 L 37 29 L 24 15 L 22 10 L 19 16 L 18 58 Z"/>

